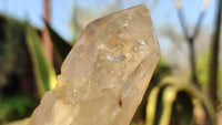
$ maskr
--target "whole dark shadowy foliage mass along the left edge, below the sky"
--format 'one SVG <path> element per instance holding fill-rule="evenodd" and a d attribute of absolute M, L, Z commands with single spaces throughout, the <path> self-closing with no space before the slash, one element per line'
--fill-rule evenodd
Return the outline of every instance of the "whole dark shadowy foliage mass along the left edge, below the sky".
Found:
<path fill-rule="evenodd" d="M 0 14 L 0 125 L 30 116 L 37 106 L 24 30 L 24 22 Z"/>

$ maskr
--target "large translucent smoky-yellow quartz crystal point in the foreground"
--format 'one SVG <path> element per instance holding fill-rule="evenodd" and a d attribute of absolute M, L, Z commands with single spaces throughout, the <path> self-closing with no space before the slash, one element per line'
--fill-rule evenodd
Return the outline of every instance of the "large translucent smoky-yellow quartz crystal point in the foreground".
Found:
<path fill-rule="evenodd" d="M 29 125 L 129 125 L 159 59 L 144 4 L 91 22 Z"/>

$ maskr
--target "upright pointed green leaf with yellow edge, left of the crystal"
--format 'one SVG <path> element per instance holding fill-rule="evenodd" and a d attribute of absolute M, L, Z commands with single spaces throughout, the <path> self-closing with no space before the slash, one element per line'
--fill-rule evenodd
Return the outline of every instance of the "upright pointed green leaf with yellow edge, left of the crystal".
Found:
<path fill-rule="evenodd" d="M 27 25 L 27 46 L 31 55 L 38 92 L 40 96 L 56 86 L 57 79 L 53 66 L 47 60 L 37 30 Z"/>

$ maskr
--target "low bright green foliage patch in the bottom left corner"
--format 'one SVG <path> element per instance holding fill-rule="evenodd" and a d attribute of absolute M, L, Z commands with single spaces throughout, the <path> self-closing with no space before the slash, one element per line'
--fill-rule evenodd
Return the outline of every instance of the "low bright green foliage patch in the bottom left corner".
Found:
<path fill-rule="evenodd" d="M 0 124 L 27 117 L 37 106 L 36 102 L 28 96 L 1 97 L 0 102 Z"/>

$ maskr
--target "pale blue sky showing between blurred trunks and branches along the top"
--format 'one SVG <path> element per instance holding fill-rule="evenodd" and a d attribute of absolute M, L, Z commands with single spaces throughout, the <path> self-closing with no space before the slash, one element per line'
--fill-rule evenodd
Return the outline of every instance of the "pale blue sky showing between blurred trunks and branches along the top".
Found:
<path fill-rule="evenodd" d="M 99 13 L 100 9 L 113 0 L 78 0 L 78 6 L 82 9 L 90 9 L 93 13 Z M 123 2 L 124 1 L 124 2 Z M 149 0 L 122 0 L 122 9 L 143 3 L 149 8 Z M 182 0 L 184 4 L 184 13 L 190 24 L 196 22 L 196 18 L 203 4 L 203 0 Z M 71 40 L 71 18 L 75 0 L 51 0 L 52 15 L 51 24 L 65 40 Z M 7 13 L 20 20 L 29 20 L 33 25 L 43 27 L 43 0 L 0 0 L 0 13 Z M 214 19 L 215 0 L 211 0 L 211 4 L 206 11 L 203 25 L 212 28 Z M 175 25 L 181 31 L 173 0 L 159 0 L 158 6 L 152 10 L 151 18 L 153 25 L 158 28 L 167 22 Z"/>

